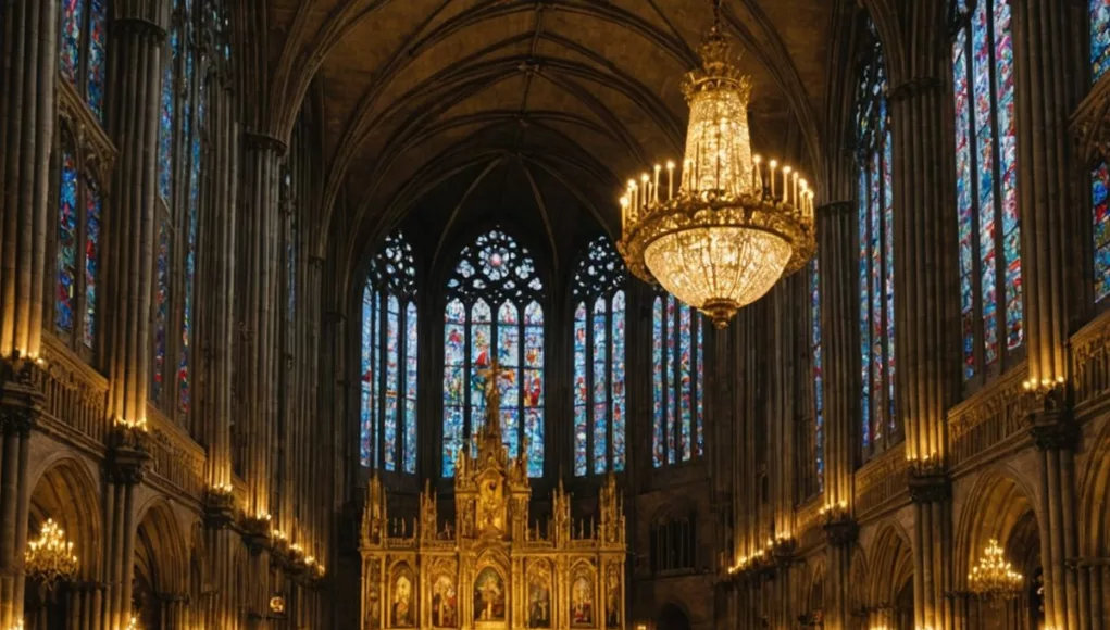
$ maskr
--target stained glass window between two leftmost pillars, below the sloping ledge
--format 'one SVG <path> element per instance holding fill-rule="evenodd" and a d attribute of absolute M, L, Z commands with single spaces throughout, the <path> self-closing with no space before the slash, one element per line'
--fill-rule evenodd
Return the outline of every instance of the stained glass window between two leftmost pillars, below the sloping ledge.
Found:
<path fill-rule="evenodd" d="M 63 126 L 59 156 L 54 332 L 89 353 L 98 333 L 104 200 L 95 171 L 70 131 Z"/>

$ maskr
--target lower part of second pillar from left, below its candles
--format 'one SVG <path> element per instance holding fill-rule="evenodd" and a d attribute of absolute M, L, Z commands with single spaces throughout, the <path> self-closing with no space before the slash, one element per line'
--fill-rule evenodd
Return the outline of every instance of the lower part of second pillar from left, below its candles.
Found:
<path fill-rule="evenodd" d="M 110 437 L 105 463 L 104 497 L 104 582 L 102 608 L 104 630 L 118 630 L 131 617 L 131 578 L 134 573 L 137 534 L 134 490 L 147 472 L 150 455 L 143 441 L 145 431 L 119 427 Z"/>

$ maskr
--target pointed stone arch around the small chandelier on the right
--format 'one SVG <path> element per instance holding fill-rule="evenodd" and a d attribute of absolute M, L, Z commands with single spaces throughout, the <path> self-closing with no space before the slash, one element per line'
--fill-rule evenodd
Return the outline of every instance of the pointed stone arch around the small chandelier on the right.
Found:
<path fill-rule="evenodd" d="M 968 572 L 979 561 L 989 540 L 997 539 L 1003 548 L 1008 548 L 1015 532 L 1029 525 L 1036 526 L 1037 531 L 1043 531 L 1036 492 L 1009 469 L 995 468 L 983 472 L 962 506 L 953 541 L 953 586 L 957 589 L 967 587 Z M 1010 549 L 1007 551 L 1011 552 Z"/>

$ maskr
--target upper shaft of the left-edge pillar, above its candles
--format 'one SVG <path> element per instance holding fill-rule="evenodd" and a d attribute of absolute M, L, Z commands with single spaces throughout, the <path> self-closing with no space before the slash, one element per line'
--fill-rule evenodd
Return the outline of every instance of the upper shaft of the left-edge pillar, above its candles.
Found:
<path fill-rule="evenodd" d="M 58 3 L 9 0 L 0 75 L 0 357 L 38 357 L 58 80 Z"/>

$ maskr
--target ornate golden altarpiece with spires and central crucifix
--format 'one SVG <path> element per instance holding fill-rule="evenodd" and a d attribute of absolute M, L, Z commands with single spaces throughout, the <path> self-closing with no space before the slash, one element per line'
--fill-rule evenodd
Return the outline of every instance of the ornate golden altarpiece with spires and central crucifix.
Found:
<path fill-rule="evenodd" d="M 545 531 L 529 527 L 527 461 L 509 458 L 503 443 L 497 375 L 496 365 L 485 374 L 476 448 L 458 455 L 456 522 L 440 527 L 431 487 L 411 527 L 391 521 L 381 480 L 370 480 L 361 534 L 363 630 L 624 628 L 625 518 L 616 480 L 610 475 L 602 487 L 596 527 L 572 521 L 562 481 Z"/>

